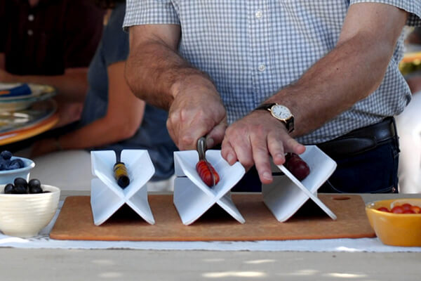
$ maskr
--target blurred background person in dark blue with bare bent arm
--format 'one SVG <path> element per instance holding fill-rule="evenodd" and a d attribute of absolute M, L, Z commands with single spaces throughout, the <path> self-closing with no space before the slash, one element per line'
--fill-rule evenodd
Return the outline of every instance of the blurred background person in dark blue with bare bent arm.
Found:
<path fill-rule="evenodd" d="M 124 78 L 128 56 L 128 34 L 123 31 L 126 10 L 124 1 L 96 0 L 107 8 L 107 25 L 88 71 L 88 92 L 78 129 L 58 138 L 45 138 L 35 143 L 32 155 L 45 155 L 58 150 L 143 149 L 155 166 L 148 189 L 171 190 L 173 152 L 177 150 L 166 129 L 168 113 L 136 98 Z M 48 157 L 48 155 L 46 156 Z M 65 157 L 63 162 L 66 161 Z M 35 158 L 39 162 L 39 158 Z M 63 164 L 61 164 L 63 165 Z M 69 169 L 80 169 L 79 163 L 69 163 Z M 64 169 L 66 171 L 67 169 Z M 91 170 L 80 171 L 91 178 Z M 32 172 L 32 174 L 34 174 Z M 89 182 L 89 181 L 88 181 Z M 156 184 L 154 184 L 156 183 Z M 156 187 L 158 186 L 158 187 Z"/>

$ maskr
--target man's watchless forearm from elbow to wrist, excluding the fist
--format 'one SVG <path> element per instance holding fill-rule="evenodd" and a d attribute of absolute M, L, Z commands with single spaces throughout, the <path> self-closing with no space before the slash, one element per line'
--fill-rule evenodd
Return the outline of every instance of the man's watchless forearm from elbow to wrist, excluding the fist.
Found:
<path fill-rule="evenodd" d="M 135 95 L 147 103 L 168 110 L 181 87 L 214 87 L 210 77 L 189 65 L 176 51 L 161 41 L 151 41 L 131 49 L 126 79 Z"/>

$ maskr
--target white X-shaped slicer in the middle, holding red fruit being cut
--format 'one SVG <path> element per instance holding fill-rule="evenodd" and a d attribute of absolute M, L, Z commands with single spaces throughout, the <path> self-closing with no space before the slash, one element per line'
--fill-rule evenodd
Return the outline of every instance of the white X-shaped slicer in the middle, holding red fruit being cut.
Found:
<path fill-rule="evenodd" d="M 182 223 L 185 225 L 193 223 L 214 204 L 218 204 L 237 221 L 244 223 L 243 216 L 231 199 L 231 188 L 246 173 L 244 167 L 239 162 L 230 166 L 222 158 L 220 150 L 206 150 L 206 159 L 220 176 L 219 183 L 212 188 L 203 183 L 196 171 L 196 164 L 199 161 L 196 150 L 174 152 L 176 178 L 173 202 Z"/>

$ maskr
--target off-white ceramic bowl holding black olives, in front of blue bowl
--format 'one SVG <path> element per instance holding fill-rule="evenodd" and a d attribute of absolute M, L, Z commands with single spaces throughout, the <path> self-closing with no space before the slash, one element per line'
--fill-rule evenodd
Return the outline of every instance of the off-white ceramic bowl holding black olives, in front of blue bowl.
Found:
<path fill-rule="evenodd" d="M 4 194 L 0 185 L 0 230 L 5 235 L 32 237 L 50 223 L 58 208 L 60 189 L 41 185 L 46 193 Z"/>

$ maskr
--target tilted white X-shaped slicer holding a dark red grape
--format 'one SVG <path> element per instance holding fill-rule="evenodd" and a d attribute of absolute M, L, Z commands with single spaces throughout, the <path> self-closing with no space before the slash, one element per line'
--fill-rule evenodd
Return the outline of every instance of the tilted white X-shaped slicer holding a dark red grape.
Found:
<path fill-rule="evenodd" d="M 274 176 L 272 183 L 262 185 L 263 201 L 280 222 L 287 221 L 309 199 L 335 220 L 333 211 L 330 211 L 317 197 L 317 190 L 333 174 L 337 166 L 336 162 L 316 145 L 306 145 L 306 150 L 300 157 L 310 168 L 307 178 L 300 181 L 285 166 L 276 166 L 272 163 L 272 171 L 281 170 L 284 175 Z"/>

